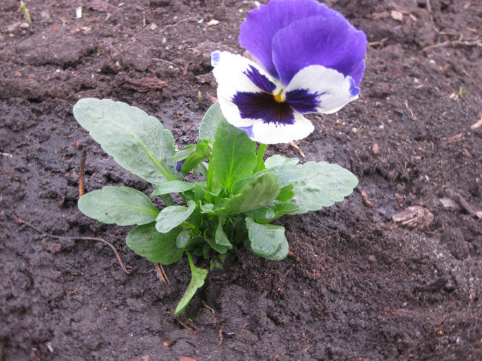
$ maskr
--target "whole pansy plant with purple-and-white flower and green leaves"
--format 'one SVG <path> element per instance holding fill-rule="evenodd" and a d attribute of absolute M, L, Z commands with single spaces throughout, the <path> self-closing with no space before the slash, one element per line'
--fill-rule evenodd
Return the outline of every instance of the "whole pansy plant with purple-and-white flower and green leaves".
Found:
<path fill-rule="evenodd" d="M 337 164 L 264 160 L 264 151 L 309 135 L 313 124 L 303 114 L 333 113 L 357 98 L 364 33 L 316 1 L 273 0 L 248 14 L 240 44 L 257 62 L 211 54 L 219 102 L 202 119 L 197 144 L 178 150 L 156 118 L 123 102 L 86 98 L 74 106 L 74 117 L 104 151 L 154 186 L 150 197 L 106 186 L 81 197 L 78 208 L 104 223 L 136 226 L 127 245 L 148 261 L 168 265 L 186 254 L 191 282 L 175 316 L 208 273 L 192 255 L 211 259 L 211 267 L 241 247 L 284 259 L 284 228 L 271 221 L 331 206 L 357 185 Z M 190 172 L 204 181 L 183 180 Z"/>

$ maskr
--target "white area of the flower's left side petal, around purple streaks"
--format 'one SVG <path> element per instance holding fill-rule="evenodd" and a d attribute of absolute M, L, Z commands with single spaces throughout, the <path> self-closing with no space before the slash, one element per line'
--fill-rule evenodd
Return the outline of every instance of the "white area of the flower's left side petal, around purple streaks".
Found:
<path fill-rule="evenodd" d="M 272 83 L 276 83 L 275 80 L 260 65 L 229 52 L 213 52 L 211 64 L 214 67 L 213 74 L 218 81 L 218 101 L 224 118 L 235 127 L 249 127 L 257 120 L 241 118 L 238 107 L 232 101 L 233 96 L 238 91 L 257 93 L 262 90 L 244 72 L 252 66 Z"/>

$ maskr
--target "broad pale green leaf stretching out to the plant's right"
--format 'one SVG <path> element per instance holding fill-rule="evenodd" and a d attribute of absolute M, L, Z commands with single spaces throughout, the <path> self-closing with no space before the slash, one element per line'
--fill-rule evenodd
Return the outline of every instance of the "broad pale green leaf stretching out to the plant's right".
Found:
<path fill-rule="evenodd" d="M 300 206 L 298 214 L 306 213 L 308 210 L 319 210 L 333 205 L 335 201 L 342 201 L 358 184 L 358 179 L 353 173 L 338 164 L 326 162 L 275 166 L 266 171 L 274 173 L 282 187 L 293 184 L 295 195 L 290 203 Z"/>

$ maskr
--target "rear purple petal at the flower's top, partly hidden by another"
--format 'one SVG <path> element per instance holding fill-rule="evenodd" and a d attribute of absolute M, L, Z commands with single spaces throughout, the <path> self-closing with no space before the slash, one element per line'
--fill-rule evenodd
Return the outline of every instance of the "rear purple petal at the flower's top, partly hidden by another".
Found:
<path fill-rule="evenodd" d="M 272 0 L 249 12 L 240 28 L 240 45 L 248 50 L 269 74 L 279 78 L 273 63 L 271 41 L 275 34 L 291 23 L 307 17 L 323 16 L 326 19 L 342 17 L 314 0 Z M 293 58 L 294 52 L 289 59 Z"/>

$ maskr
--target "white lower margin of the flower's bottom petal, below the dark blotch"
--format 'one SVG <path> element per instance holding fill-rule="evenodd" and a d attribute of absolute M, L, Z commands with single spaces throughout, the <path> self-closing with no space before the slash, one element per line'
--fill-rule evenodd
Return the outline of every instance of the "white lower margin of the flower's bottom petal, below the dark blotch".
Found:
<path fill-rule="evenodd" d="M 294 124 L 253 123 L 252 140 L 264 144 L 289 143 L 306 138 L 315 129 L 301 113 L 294 111 Z"/>

